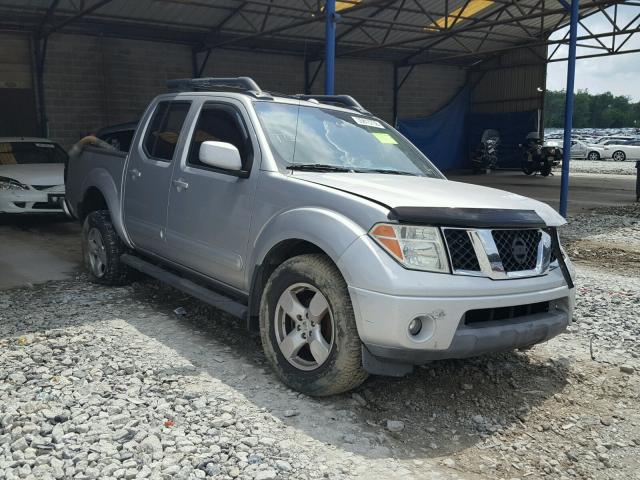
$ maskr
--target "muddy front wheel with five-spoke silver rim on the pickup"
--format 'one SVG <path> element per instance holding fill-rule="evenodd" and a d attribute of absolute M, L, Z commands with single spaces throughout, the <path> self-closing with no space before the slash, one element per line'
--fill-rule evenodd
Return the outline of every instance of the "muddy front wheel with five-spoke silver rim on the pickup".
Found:
<path fill-rule="evenodd" d="M 260 334 L 269 363 L 294 390 L 335 395 L 367 378 L 347 284 L 325 255 L 276 268 L 262 294 Z"/>

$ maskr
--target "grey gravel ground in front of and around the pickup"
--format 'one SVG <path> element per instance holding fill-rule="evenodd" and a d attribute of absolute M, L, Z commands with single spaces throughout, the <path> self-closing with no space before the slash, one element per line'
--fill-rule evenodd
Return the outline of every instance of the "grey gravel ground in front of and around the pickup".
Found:
<path fill-rule="evenodd" d="M 0 478 L 640 479 L 640 210 L 600 213 L 564 232 L 566 335 L 328 399 L 152 281 L 0 291 Z"/>

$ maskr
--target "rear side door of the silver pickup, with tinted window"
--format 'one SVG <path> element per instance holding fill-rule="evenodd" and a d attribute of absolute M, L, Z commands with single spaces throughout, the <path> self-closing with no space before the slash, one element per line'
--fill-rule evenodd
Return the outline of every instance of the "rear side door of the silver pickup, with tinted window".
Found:
<path fill-rule="evenodd" d="M 159 101 L 132 146 L 125 170 L 124 222 L 136 248 L 164 255 L 167 202 L 174 157 L 191 102 Z M 141 126 L 144 123 L 141 123 Z"/>

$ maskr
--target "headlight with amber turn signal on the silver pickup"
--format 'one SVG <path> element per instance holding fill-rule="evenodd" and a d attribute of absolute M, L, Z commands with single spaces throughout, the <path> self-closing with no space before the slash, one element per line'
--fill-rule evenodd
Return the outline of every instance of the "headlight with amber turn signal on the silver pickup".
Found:
<path fill-rule="evenodd" d="M 369 235 L 406 268 L 449 273 L 446 249 L 436 227 L 379 223 Z"/>

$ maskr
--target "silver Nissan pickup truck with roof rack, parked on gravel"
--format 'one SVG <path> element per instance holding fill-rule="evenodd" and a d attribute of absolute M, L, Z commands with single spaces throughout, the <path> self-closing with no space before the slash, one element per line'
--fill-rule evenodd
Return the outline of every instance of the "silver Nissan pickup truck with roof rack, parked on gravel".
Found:
<path fill-rule="evenodd" d="M 529 347 L 571 321 L 551 207 L 448 181 L 348 96 L 244 77 L 170 87 L 128 153 L 69 162 L 93 281 L 141 271 L 244 319 L 278 376 L 311 395 Z"/>

